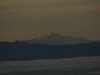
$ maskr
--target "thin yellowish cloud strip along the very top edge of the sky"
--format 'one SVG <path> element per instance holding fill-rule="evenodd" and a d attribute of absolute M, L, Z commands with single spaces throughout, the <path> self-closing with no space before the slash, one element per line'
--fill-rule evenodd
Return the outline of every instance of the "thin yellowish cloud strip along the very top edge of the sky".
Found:
<path fill-rule="evenodd" d="M 43 3 L 43 4 L 51 4 L 51 3 L 98 3 L 99 0 L 1 0 L 1 5 L 10 5 L 10 4 L 28 4 L 28 3 Z"/>

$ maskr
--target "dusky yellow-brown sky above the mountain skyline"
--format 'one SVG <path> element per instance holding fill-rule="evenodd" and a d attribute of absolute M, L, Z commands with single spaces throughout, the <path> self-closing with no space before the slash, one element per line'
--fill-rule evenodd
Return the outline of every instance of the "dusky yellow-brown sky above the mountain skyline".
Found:
<path fill-rule="evenodd" d="M 100 0 L 0 0 L 0 41 L 49 32 L 100 40 Z"/>

